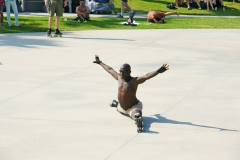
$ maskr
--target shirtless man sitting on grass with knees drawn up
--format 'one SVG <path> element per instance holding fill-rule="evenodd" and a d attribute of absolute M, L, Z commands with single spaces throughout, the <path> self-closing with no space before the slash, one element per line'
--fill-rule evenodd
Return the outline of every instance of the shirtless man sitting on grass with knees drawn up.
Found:
<path fill-rule="evenodd" d="M 84 0 L 80 0 L 80 5 L 76 7 L 77 18 L 75 20 L 89 20 L 90 9 L 85 6 Z"/>

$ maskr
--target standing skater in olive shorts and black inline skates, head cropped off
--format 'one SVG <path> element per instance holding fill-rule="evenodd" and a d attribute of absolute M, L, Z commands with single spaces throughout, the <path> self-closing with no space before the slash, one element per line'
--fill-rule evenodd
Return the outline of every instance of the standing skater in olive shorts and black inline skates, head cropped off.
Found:
<path fill-rule="evenodd" d="M 67 0 L 64 1 L 64 7 L 67 6 Z M 52 32 L 52 22 L 53 17 L 56 13 L 56 30 L 55 36 L 62 36 L 62 33 L 59 31 L 60 18 L 63 16 L 63 0 L 45 0 L 45 6 L 48 6 L 49 19 L 48 19 L 48 31 L 47 36 L 51 35 Z"/>

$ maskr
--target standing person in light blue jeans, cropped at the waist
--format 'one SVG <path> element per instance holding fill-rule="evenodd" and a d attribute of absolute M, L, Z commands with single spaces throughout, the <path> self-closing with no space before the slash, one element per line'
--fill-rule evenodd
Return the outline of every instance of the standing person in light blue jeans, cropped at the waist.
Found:
<path fill-rule="evenodd" d="M 16 26 L 21 27 L 18 22 L 18 9 L 17 9 L 16 0 L 5 0 L 5 5 L 6 5 L 6 11 L 7 11 L 8 26 L 10 28 L 12 27 L 12 21 L 10 17 L 10 11 L 11 11 L 10 7 L 11 7 L 14 13 Z"/>

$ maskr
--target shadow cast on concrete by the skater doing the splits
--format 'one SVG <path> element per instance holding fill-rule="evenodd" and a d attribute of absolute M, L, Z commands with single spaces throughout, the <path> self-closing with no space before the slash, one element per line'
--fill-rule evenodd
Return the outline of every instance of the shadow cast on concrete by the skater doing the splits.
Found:
<path fill-rule="evenodd" d="M 122 114 L 122 115 L 124 115 L 124 114 Z M 131 118 L 128 115 L 124 115 L 124 116 Z M 220 127 L 207 126 L 207 125 L 200 125 L 200 124 L 194 124 L 194 123 L 191 123 L 191 122 L 181 122 L 181 121 L 171 120 L 171 119 L 167 119 L 167 118 L 161 116 L 160 114 L 155 114 L 153 116 L 155 116 L 156 118 L 143 116 L 144 133 L 159 134 L 159 132 L 157 132 L 157 131 L 150 130 L 152 123 L 169 123 L 169 124 L 189 125 L 189 126 L 196 126 L 196 127 L 202 127 L 202 128 L 217 129 L 219 131 L 238 132 L 238 130 L 233 130 L 233 129 L 220 128 Z"/>

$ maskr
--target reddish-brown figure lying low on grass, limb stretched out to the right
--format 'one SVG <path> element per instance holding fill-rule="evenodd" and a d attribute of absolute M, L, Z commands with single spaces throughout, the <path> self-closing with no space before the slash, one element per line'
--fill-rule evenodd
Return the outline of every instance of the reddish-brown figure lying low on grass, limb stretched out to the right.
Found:
<path fill-rule="evenodd" d="M 150 11 L 147 15 L 148 22 L 155 22 L 155 23 L 164 23 L 164 18 L 170 15 L 178 15 L 177 12 L 157 12 L 157 11 Z M 178 15 L 179 16 L 179 15 Z"/>

